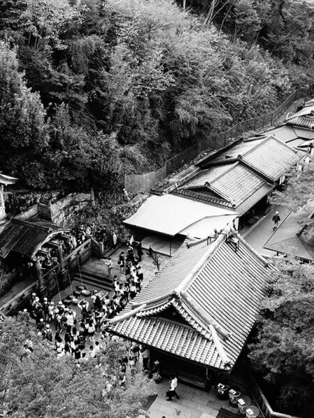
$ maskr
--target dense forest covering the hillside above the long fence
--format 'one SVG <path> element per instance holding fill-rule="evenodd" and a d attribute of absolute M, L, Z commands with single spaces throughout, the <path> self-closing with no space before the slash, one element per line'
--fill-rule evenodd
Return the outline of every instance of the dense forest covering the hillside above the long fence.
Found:
<path fill-rule="evenodd" d="M 0 0 L 1 171 L 115 189 L 311 83 L 313 3 Z M 21 184 L 20 183 L 20 184 Z"/>

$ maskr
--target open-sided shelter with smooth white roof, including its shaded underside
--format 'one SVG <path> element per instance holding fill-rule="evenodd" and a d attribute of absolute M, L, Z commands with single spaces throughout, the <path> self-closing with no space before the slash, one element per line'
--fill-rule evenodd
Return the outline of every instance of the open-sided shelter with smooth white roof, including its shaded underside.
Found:
<path fill-rule="evenodd" d="M 207 238 L 214 230 L 237 224 L 232 205 L 208 204 L 178 193 L 150 196 L 124 224 L 135 231 L 144 247 L 172 256 L 186 236 Z"/>

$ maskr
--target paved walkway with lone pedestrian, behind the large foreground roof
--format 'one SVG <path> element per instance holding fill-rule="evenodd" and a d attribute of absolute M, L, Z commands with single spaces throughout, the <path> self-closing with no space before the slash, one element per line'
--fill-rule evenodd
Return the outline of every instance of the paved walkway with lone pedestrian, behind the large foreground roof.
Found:
<path fill-rule="evenodd" d="M 267 256 L 274 256 L 276 253 L 270 251 L 269 249 L 264 249 L 265 243 L 269 240 L 271 235 L 274 233 L 273 227 L 274 222 L 272 222 L 272 217 L 275 215 L 276 210 L 279 212 L 281 217 L 281 222 L 289 215 L 290 210 L 285 206 L 274 206 L 274 209 L 271 212 L 267 213 L 266 216 L 262 217 L 255 225 L 251 226 L 251 229 L 246 231 L 243 234 L 244 239 L 248 242 L 253 249 L 255 249 L 259 254 L 264 254 Z M 280 222 L 280 224 L 281 224 Z"/>

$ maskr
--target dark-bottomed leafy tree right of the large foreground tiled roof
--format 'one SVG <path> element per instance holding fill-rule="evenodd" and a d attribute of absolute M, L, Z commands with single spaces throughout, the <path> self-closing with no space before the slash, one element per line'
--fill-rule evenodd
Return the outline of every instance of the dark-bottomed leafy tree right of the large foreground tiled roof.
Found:
<path fill-rule="evenodd" d="M 314 408 L 314 265 L 286 259 L 277 267 L 249 357 L 276 409 L 305 418 Z"/>

